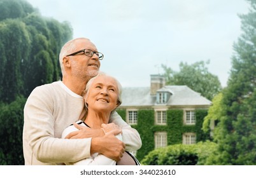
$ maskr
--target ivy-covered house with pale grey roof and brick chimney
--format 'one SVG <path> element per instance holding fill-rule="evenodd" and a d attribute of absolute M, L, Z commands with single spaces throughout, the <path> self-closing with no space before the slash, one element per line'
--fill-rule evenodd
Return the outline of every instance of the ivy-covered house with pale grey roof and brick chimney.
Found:
<path fill-rule="evenodd" d="M 154 141 L 150 149 L 169 144 L 195 144 L 202 140 L 201 126 L 211 101 L 188 86 L 166 86 L 165 78 L 158 74 L 150 77 L 150 87 L 123 88 L 122 104 L 118 107 L 119 113 L 123 111 L 122 118 L 136 128 L 141 136 L 152 135 L 150 140 Z M 139 120 L 145 119 L 139 117 L 139 111 L 142 110 L 152 112 L 153 121 L 147 118 L 145 124 L 138 125 Z M 199 111 L 204 114 L 199 114 Z M 141 128 L 146 124 L 147 128 Z M 142 141 L 147 144 L 150 142 Z"/>

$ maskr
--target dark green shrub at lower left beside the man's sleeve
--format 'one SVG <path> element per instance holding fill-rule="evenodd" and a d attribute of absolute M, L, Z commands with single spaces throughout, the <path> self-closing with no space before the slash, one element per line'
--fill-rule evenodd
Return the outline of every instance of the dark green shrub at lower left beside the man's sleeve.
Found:
<path fill-rule="evenodd" d="M 0 105 L 1 165 L 24 165 L 22 131 L 25 101 L 24 97 L 18 97 L 10 104 Z"/>

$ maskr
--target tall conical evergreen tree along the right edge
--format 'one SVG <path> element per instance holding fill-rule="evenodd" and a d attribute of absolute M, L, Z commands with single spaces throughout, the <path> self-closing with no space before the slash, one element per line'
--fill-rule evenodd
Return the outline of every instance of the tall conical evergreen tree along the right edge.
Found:
<path fill-rule="evenodd" d="M 232 68 L 223 91 L 225 113 L 218 124 L 218 152 L 213 163 L 256 164 L 256 1 L 240 15 L 243 34 L 234 43 Z"/>

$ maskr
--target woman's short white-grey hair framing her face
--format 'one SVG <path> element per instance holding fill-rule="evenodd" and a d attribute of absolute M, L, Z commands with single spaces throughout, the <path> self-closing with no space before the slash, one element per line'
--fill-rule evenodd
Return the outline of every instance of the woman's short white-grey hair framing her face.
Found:
<path fill-rule="evenodd" d="M 87 99 L 88 97 L 88 93 L 89 93 L 89 90 L 90 90 L 90 86 L 92 85 L 92 82 L 94 81 L 94 79 L 96 79 L 98 76 L 109 76 L 107 74 L 105 74 L 104 72 L 101 72 L 99 71 L 97 76 L 91 78 L 88 82 L 87 82 L 87 85 L 85 86 L 85 90 L 83 91 L 83 98 Z M 111 78 L 113 78 L 112 76 L 109 76 Z M 117 104 L 118 106 L 120 106 L 120 104 L 122 104 L 122 85 L 120 84 L 120 82 L 116 79 L 116 78 L 113 78 L 115 80 L 115 82 L 117 83 L 117 92 L 118 92 L 118 97 L 117 97 Z M 85 106 L 87 108 L 87 103 L 85 102 Z M 117 106 L 117 107 L 118 107 Z"/>

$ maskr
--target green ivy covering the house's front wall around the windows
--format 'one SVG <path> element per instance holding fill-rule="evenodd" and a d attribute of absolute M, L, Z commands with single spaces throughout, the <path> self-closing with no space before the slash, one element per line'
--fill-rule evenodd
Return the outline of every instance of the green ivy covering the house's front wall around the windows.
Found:
<path fill-rule="evenodd" d="M 167 132 L 167 144 L 182 144 L 182 134 L 194 132 L 197 135 L 197 142 L 210 138 L 210 134 L 204 134 L 201 130 L 203 119 L 207 115 L 207 110 L 196 110 L 196 125 L 183 125 L 183 110 L 169 109 L 167 114 L 167 125 L 155 125 L 155 113 L 153 109 L 138 110 L 138 124 L 131 125 L 138 130 L 141 136 L 142 146 L 137 151 L 136 158 L 141 161 L 150 151 L 155 149 L 155 132 Z M 118 109 L 117 113 L 126 121 L 126 110 Z"/>

